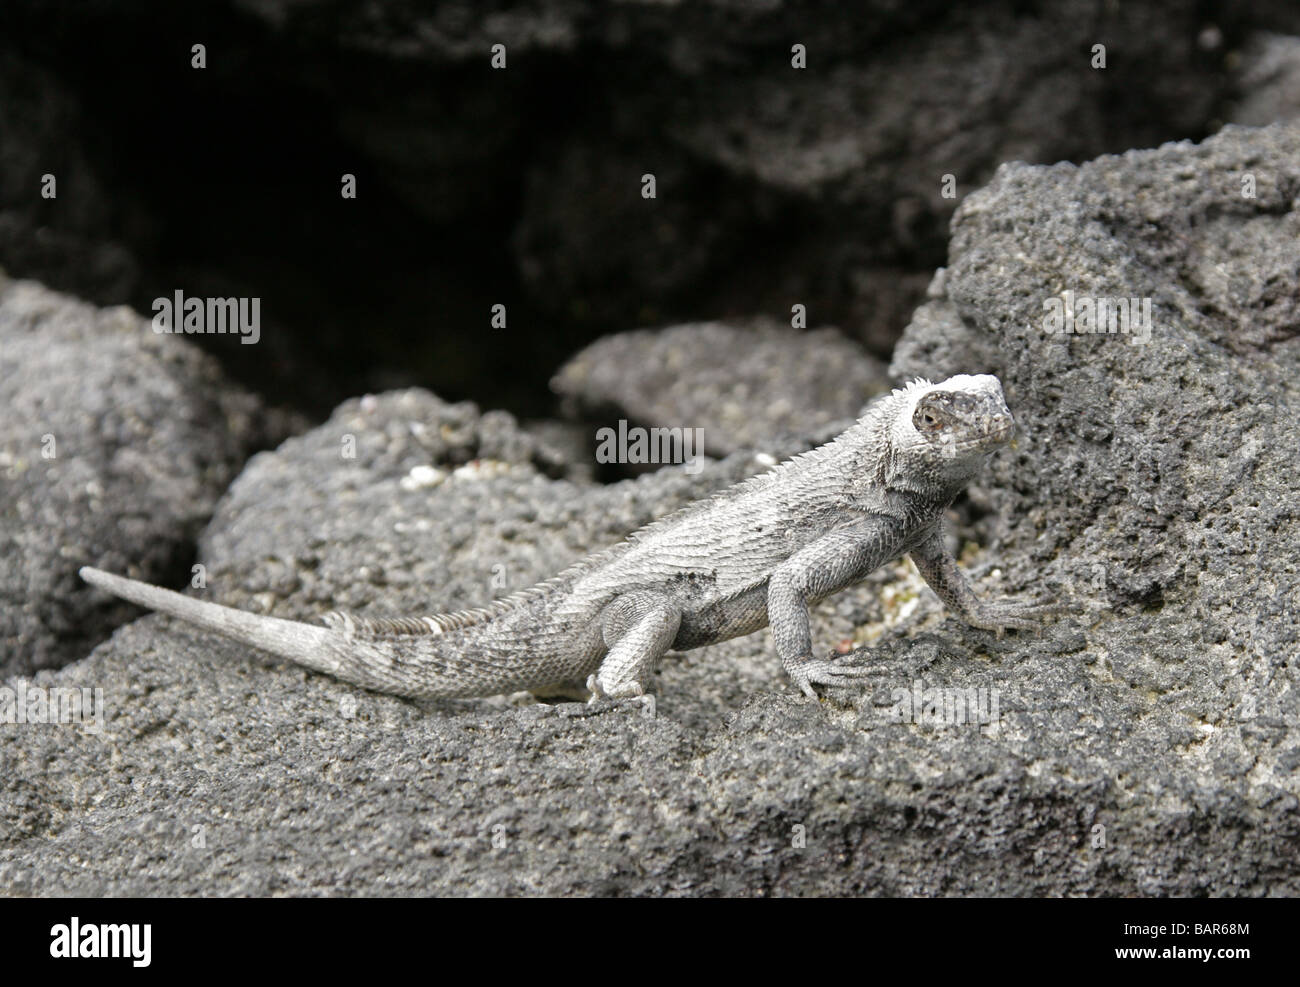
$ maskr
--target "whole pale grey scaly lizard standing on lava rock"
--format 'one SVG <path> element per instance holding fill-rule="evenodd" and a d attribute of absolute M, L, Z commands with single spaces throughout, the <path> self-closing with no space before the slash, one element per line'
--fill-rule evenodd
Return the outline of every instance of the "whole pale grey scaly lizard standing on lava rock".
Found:
<path fill-rule="evenodd" d="M 967 623 L 1028 628 L 1053 607 L 980 602 L 944 549 L 942 515 L 1011 414 L 997 377 L 914 381 L 827 445 L 699 501 L 558 576 L 482 610 L 325 627 L 257 616 L 86 567 L 82 577 L 153 610 L 368 689 L 415 698 L 572 688 L 640 697 L 670 649 L 771 625 L 807 696 L 863 675 L 818 658 L 809 606 L 910 554 Z"/>

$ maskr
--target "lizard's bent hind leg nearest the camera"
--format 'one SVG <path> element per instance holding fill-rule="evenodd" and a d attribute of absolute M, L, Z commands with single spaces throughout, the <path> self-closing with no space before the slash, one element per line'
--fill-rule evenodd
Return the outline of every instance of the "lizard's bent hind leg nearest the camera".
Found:
<path fill-rule="evenodd" d="M 644 696 L 680 625 L 681 607 L 658 593 L 624 593 L 610 602 L 601 614 L 608 651 L 586 680 L 592 701 Z"/>

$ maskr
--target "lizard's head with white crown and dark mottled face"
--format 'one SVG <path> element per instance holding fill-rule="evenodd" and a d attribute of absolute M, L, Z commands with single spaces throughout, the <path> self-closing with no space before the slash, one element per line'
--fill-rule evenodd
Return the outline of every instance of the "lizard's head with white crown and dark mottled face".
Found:
<path fill-rule="evenodd" d="M 894 447 L 945 464 L 954 476 L 979 466 L 1015 429 L 1002 385 L 991 375 L 918 381 L 907 390 L 911 402 L 896 423 Z"/>

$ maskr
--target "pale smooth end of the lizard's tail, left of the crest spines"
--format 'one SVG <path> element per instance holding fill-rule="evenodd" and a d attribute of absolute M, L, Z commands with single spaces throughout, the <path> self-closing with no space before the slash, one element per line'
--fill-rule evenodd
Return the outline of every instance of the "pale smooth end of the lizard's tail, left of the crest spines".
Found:
<path fill-rule="evenodd" d="M 92 586 L 108 590 L 122 599 L 157 610 L 160 614 L 177 616 L 208 631 L 216 631 L 308 668 L 329 675 L 339 675 L 342 671 L 337 658 L 337 636 L 324 627 L 312 627 L 296 620 L 261 616 L 234 607 L 208 603 L 148 583 L 114 576 L 112 572 L 104 572 L 91 566 L 82 567 L 81 577 Z"/>

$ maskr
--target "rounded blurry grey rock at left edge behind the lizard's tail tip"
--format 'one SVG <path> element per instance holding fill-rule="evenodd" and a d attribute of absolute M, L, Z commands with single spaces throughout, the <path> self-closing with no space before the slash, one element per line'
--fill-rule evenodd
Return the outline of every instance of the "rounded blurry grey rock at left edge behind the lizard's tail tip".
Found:
<path fill-rule="evenodd" d="M 94 560 L 172 579 L 243 460 L 287 417 L 129 308 L 0 272 L 0 671 L 83 658 L 129 609 Z"/>

